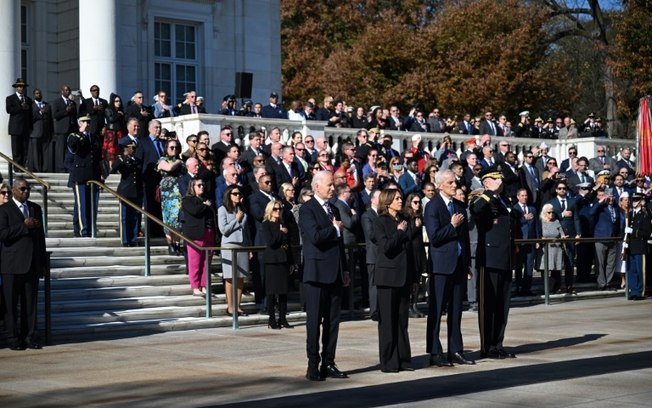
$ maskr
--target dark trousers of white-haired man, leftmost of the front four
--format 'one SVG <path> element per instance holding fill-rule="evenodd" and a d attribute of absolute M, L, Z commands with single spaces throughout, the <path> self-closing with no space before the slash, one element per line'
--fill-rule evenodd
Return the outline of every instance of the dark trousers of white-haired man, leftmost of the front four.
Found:
<path fill-rule="evenodd" d="M 340 328 L 340 310 L 342 307 L 342 282 L 334 283 L 306 282 L 306 353 L 308 368 L 317 369 L 322 365 L 335 363 L 335 349 Z M 321 327 L 320 327 L 321 326 Z M 321 328 L 321 359 L 319 354 L 319 337 Z"/>

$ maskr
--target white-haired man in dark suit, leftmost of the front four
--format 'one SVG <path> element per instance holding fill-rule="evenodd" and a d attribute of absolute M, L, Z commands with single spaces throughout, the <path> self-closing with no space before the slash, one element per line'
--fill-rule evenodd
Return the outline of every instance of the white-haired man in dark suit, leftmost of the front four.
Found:
<path fill-rule="evenodd" d="M 326 377 L 348 377 L 335 365 L 335 349 L 340 326 L 342 288 L 349 285 L 350 278 L 343 262 L 342 221 L 337 208 L 328 202 L 333 196 L 333 176 L 330 172 L 320 171 L 315 174 L 312 189 L 313 198 L 299 209 L 305 259 L 306 378 L 310 381 L 323 381 Z"/>

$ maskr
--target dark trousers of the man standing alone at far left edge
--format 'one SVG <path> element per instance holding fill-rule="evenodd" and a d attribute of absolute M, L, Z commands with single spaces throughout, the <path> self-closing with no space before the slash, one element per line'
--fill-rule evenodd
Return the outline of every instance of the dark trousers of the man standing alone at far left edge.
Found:
<path fill-rule="evenodd" d="M 21 275 L 2 274 L 2 282 L 6 306 L 5 329 L 9 345 L 36 340 L 37 274 L 31 271 Z M 18 316 L 18 302 L 20 302 L 20 316 Z"/>

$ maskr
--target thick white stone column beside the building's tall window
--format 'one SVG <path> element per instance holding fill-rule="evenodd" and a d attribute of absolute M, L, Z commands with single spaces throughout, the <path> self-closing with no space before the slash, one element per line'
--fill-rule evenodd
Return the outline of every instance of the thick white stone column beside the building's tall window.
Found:
<path fill-rule="evenodd" d="M 79 87 L 86 98 L 91 85 L 98 85 L 107 100 L 117 91 L 115 1 L 79 1 Z"/>

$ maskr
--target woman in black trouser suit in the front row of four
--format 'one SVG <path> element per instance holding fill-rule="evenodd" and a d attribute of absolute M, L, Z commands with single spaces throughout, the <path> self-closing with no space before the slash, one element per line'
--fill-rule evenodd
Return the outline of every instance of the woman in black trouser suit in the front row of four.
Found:
<path fill-rule="evenodd" d="M 412 371 L 408 308 L 417 287 L 411 227 L 402 219 L 403 198 L 398 190 L 380 193 L 374 237 L 378 245 L 376 287 L 378 289 L 378 335 L 380 370 Z"/>

